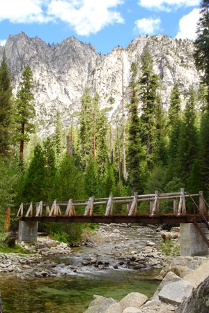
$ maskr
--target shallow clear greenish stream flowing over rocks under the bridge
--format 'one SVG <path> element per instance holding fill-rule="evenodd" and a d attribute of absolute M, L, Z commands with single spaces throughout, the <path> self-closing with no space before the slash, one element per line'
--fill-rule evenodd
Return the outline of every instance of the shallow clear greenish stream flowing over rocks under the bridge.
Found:
<path fill-rule="evenodd" d="M 125 234 L 127 236 L 127 234 Z M 150 235 L 148 235 L 150 237 Z M 137 239 L 137 241 L 136 241 Z M 144 246 L 144 236 L 130 235 L 124 245 Z M 138 242 L 139 241 L 139 242 Z M 159 282 L 150 280 L 159 270 L 129 270 L 127 268 L 100 270 L 94 266 L 82 266 L 82 260 L 100 255 L 102 259 L 115 260 L 112 251 L 118 243 L 104 243 L 102 247 L 79 248 L 70 257 L 54 259 L 64 263 L 59 277 L 30 278 L 20 280 L 16 277 L 0 277 L 0 292 L 3 300 L 3 313 L 82 313 L 88 307 L 94 294 L 121 300 L 130 292 L 140 292 L 150 297 Z M 99 248 L 99 249 L 98 249 Z M 68 269 L 69 264 L 78 266 L 76 273 Z"/>

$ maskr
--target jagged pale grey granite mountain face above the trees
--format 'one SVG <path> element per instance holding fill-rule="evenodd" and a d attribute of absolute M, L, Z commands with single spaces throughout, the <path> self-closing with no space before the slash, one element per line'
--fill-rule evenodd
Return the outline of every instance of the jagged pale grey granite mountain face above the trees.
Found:
<path fill-rule="evenodd" d="M 40 38 L 29 38 L 25 33 L 9 36 L 5 51 L 14 77 L 15 92 L 22 71 L 31 66 L 36 84 L 36 112 L 38 132 L 41 136 L 52 133 L 52 120 L 56 110 L 61 112 L 62 122 L 68 126 L 72 113 L 77 116 L 80 97 L 88 86 L 100 94 L 100 107 L 109 118 L 121 107 L 122 75 L 125 100 L 129 100 L 127 86 L 130 83 L 132 61 L 141 66 L 141 56 L 146 49 L 153 56 L 154 69 L 160 75 L 159 92 L 164 108 L 169 107 L 169 95 L 174 82 L 179 82 L 185 93 L 199 84 L 199 74 L 194 66 L 194 45 L 191 40 L 173 40 L 167 36 L 139 36 L 127 48 L 114 48 L 107 56 L 100 55 L 91 44 L 75 37 L 57 45 L 47 45 Z M 3 47 L 0 47 L 0 59 Z M 110 103 L 109 97 L 114 98 Z"/>

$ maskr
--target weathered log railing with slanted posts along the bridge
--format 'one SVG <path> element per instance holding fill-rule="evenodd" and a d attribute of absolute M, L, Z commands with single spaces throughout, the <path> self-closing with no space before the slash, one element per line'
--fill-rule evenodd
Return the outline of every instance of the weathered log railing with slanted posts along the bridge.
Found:
<path fill-rule="evenodd" d="M 203 192 L 192 194 L 192 197 L 199 197 L 199 205 L 201 212 L 207 216 L 208 208 L 206 208 L 206 201 L 203 199 Z M 20 204 L 20 208 L 17 212 L 17 217 L 70 217 L 75 216 L 76 208 L 83 206 L 84 216 L 93 216 L 93 208 L 95 206 L 106 206 L 104 216 L 113 215 L 114 204 L 126 204 L 126 215 L 136 216 L 137 205 L 142 201 L 150 201 L 150 215 L 156 216 L 160 214 L 160 200 L 173 199 L 173 215 L 186 215 L 186 202 L 185 199 L 189 197 L 189 194 L 185 192 L 183 188 L 180 192 L 160 193 L 157 190 L 154 194 L 137 194 L 134 193 L 130 197 L 113 197 L 110 194 L 109 198 L 97 198 L 90 197 L 84 200 L 73 200 L 68 201 L 56 201 L 53 202 L 31 202 L 30 204 Z M 63 211 L 63 206 L 64 211 Z M 61 208 L 62 207 L 62 208 Z"/>

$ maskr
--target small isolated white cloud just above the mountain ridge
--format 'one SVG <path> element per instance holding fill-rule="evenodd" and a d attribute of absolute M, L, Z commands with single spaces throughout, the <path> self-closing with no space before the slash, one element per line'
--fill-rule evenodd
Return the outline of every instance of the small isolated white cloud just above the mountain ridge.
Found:
<path fill-rule="evenodd" d="M 134 23 L 136 25 L 134 29 L 137 29 L 140 34 L 153 35 L 155 31 L 160 29 L 160 23 L 161 20 L 159 18 L 155 20 L 152 17 L 143 18 Z"/>

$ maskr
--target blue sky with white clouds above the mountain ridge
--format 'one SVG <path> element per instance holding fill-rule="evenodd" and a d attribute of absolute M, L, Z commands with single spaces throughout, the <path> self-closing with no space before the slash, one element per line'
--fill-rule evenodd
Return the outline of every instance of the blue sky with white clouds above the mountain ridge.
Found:
<path fill-rule="evenodd" d="M 24 31 L 45 43 L 75 36 L 102 54 L 140 35 L 195 39 L 200 0 L 0 0 L 0 45 Z"/>

